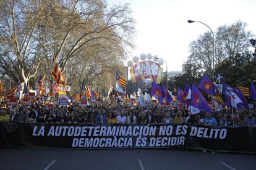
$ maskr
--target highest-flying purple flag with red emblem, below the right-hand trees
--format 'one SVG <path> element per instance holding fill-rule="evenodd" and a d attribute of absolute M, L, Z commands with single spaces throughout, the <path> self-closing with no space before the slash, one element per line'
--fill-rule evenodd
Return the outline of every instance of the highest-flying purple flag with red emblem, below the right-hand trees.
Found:
<path fill-rule="evenodd" d="M 203 76 L 201 82 L 198 84 L 198 88 L 207 94 L 216 94 L 215 84 L 213 84 L 206 75 Z"/>

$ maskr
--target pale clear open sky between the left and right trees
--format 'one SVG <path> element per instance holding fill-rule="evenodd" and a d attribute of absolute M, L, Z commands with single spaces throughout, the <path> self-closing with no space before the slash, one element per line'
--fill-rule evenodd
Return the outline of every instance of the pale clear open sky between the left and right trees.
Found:
<path fill-rule="evenodd" d="M 247 23 L 247 31 L 256 34 L 255 0 L 107 0 L 109 5 L 130 3 L 136 20 L 137 36 L 129 60 L 140 54 L 158 55 L 168 63 L 168 71 L 181 71 L 189 57 L 189 44 L 220 25 L 237 20 Z M 256 36 L 255 36 L 256 38 Z M 166 71 L 165 64 L 163 65 Z"/>

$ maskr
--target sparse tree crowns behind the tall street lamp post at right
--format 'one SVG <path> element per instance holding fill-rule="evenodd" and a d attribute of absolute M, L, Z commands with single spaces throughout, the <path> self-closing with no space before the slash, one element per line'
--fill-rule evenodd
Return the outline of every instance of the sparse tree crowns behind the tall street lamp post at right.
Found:
<path fill-rule="evenodd" d="M 252 33 L 245 31 L 245 26 L 245 23 L 239 21 L 218 27 L 215 33 L 215 65 L 228 57 L 235 57 L 239 53 L 249 51 Z M 212 49 L 213 37 L 210 32 L 206 32 L 190 43 L 190 55 L 187 62 L 197 68 L 200 73 L 210 75 L 213 65 Z"/>

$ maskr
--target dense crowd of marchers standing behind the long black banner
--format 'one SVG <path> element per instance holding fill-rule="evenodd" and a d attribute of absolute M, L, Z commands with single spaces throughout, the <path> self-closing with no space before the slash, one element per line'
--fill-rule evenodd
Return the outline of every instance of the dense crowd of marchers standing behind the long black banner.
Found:
<path fill-rule="evenodd" d="M 45 105 L 20 105 L 0 108 L 0 121 L 9 123 L 191 123 L 220 126 L 256 126 L 255 110 L 231 110 L 197 113 L 186 108 L 116 106 L 78 106 L 46 108 Z"/>

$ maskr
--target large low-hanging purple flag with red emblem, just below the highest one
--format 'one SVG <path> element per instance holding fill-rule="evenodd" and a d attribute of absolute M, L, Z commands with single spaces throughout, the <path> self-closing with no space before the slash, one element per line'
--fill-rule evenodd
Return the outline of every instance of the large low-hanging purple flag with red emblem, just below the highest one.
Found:
<path fill-rule="evenodd" d="M 211 113 L 211 109 L 207 104 L 207 101 L 203 97 L 203 95 L 198 91 L 197 86 L 192 84 L 191 90 L 191 105 L 199 110 L 206 111 L 207 113 Z"/>

